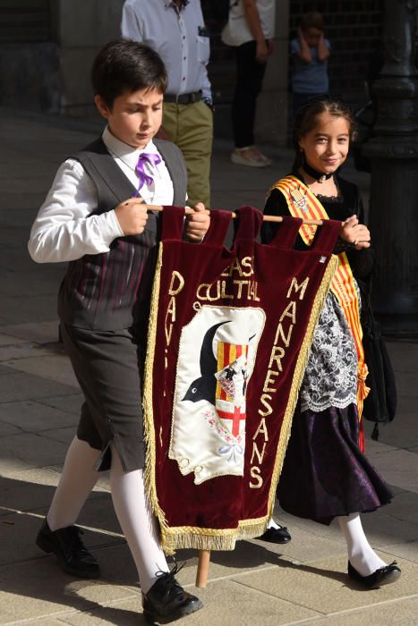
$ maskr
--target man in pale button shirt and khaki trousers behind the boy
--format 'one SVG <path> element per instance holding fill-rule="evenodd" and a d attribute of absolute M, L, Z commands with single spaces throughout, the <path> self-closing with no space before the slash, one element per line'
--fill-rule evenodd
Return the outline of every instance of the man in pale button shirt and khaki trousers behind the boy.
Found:
<path fill-rule="evenodd" d="M 168 75 L 162 130 L 183 152 L 191 205 L 210 206 L 213 140 L 212 94 L 206 69 L 209 31 L 200 0 L 127 0 L 122 35 L 141 41 L 161 56 Z"/>

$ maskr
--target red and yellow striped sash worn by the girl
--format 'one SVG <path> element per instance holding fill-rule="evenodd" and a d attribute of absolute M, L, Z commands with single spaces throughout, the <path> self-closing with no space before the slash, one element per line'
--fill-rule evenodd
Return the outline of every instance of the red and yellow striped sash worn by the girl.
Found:
<path fill-rule="evenodd" d="M 321 205 L 320 200 L 311 192 L 309 187 L 303 184 L 295 176 L 286 176 L 278 181 L 271 190 L 277 189 L 283 193 L 286 198 L 287 207 L 291 216 L 303 217 L 305 219 L 329 219 L 325 208 Z M 270 190 L 270 193 L 271 193 Z M 303 224 L 299 231 L 303 242 L 310 246 L 315 236 L 317 226 L 313 224 Z M 367 365 L 364 362 L 363 350 L 363 330 L 360 324 L 360 306 L 358 301 L 357 290 L 354 284 L 354 276 L 351 271 L 350 264 L 345 252 L 341 252 L 338 256 L 337 272 L 331 283 L 331 291 L 336 296 L 341 308 L 343 309 L 345 319 L 353 334 L 355 348 L 358 360 L 358 384 L 357 384 L 357 410 L 361 422 L 360 447 L 364 450 L 363 437 L 363 402 L 367 397 L 370 389 L 366 386 L 366 377 L 368 374 Z"/>

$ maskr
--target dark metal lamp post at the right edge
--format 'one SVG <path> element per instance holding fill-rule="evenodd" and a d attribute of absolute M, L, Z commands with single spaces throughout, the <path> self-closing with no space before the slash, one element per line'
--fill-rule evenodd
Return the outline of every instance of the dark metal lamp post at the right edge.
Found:
<path fill-rule="evenodd" d="M 371 241 L 376 251 L 374 309 L 388 334 L 418 335 L 418 0 L 386 0 L 385 63 L 373 87 Z"/>

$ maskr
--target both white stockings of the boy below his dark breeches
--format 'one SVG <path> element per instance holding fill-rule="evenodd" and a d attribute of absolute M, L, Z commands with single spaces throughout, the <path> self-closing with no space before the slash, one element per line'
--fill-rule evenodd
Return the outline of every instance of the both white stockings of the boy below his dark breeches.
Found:
<path fill-rule="evenodd" d="M 64 469 L 56 488 L 47 522 L 51 530 L 71 526 L 95 486 L 99 472 L 93 469 L 100 451 L 74 437 L 65 457 Z M 157 571 L 168 571 L 158 538 L 157 521 L 145 495 L 141 469 L 125 472 L 112 446 L 110 488 L 115 512 L 147 593 L 157 579 Z"/>

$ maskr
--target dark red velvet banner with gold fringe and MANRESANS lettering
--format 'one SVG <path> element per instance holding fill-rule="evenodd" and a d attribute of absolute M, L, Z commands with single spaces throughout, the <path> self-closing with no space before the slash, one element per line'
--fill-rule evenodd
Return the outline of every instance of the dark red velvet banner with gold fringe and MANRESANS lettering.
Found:
<path fill-rule="evenodd" d="M 230 550 L 257 537 L 274 506 L 297 393 L 337 258 L 328 220 L 293 250 L 301 220 L 269 245 L 262 215 L 212 211 L 200 244 L 182 241 L 183 209 L 165 207 L 144 383 L 146 479 L 167 552 Z"/>

